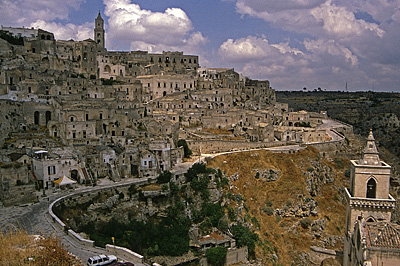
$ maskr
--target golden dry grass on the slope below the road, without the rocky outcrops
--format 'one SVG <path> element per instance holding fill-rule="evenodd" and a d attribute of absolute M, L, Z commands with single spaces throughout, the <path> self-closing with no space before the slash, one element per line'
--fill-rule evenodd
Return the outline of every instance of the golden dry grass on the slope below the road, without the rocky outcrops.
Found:
<path fill-rule="evenodd" d="M 318 152 L 313 148 L 295 154 L 278 154 L 261 150 L 218 156 L 208 164 L 209 167 L 219 167 L 226 176 L 239 174 L 239 179 L 233 182 L 234 188 L 225 192 L 235 195 L 240 193 L 245 196 L 248 214 L 256 217 L 260 224 L 260 230 L 256 232 L 263 244 L 256 247 L 256 256 L 263 258 L 265 265 L 273 265 L 271 262 L 273 252 L 268 249 L 268 245 L 276 248 L 282 265 L 291 265 L 295 252 L 309 252 L 310 246 L 316 245 L 319 241 L 313 239 L 310 229 L 303 229 L 299 225 L 301 218 L 280 218 L 269 216 L 262 211 L 267 206 L 267 201 L 272 203 L 273 209 L 282 209 L 288 203 L 294 205 L 301 198 L 310 197 L 305 186 L 305 173 L 311 162 L 317 158 Z M 325 159 L 320 160 L 321 163 L 332 167 L 335 181 L 333 184 L 323 186 L 319 195 L 314 197 L 314 200 L 318 201 L 319 212 L 316 217 L 309 218 L 312 221 L 322 218 L 326 220 L 323 236 L 326 234 L 343 236 L 345 205 L 338 200 L 337 188 L 344 183 L 346 166 L 343 169 L 336 169 L 335 163 Z M 279 170 L 280 178 L 273 182 L 256 179 L 257 169 Z M 235 204 L 237 203 L 232 201 L 231 207 L 235 207 Z M 342 247 L 339 244 L 328 248 Z"/>

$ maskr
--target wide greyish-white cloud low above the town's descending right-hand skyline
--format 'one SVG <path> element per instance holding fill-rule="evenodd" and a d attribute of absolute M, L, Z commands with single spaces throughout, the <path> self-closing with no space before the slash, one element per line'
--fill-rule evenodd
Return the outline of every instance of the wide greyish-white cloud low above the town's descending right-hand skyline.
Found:
<path fill-rule="evenodd" d="M 358 57 L 348 47 L 330 39 L 307 39 L 303 45 L 301 51 L 288 42 L 270 43 L 265 37 L 248 36 L 228 39 L 220 46 L 219 53 L 227 64 L 245 76 L 267 77 L 279 89 L 304 86 L 342 89 L 343 77 L 365 78 Z"/>

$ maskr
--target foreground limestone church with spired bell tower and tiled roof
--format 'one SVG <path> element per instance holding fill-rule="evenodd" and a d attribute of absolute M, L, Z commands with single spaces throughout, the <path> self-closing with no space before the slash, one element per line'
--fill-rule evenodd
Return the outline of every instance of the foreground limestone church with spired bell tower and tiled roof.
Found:
<path fill-rule="evenodd" d="M 344 265 L 399 265 L 399 226 L 390 222 L 396 200 L 389 194 L 391 166 L 379 158 L 372 130 L 359 160 L 351 160 Z"/>

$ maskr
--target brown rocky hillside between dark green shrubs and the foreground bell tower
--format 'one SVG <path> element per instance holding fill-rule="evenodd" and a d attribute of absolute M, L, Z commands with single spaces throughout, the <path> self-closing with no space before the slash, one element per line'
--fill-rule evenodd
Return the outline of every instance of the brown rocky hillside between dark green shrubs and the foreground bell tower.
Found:
<path fill-rule="evenodd" d="M 299 254 L 309 252 L 312 245 L 342 250 L 345 204 L 340 191 L 345 185 L 344 173 L 349 166 L 347 160 L 320 158 L 314 148 L 295 154 L 260 150 L 218 156 L 208 166 L 219 167 L 227 177 L 231 177 L 231 188 L 227 188 L 225 194 L 244 195 L 248 211 L 242 215 L 254 226 L 261 239 L 256 247 L 256 256 L 263 258 L 265 265 L 299 263 Z M 261 177 L 256 178 L 257 171 L 270 169 L 280 171 L 278 180 L 267 182 Z M 232 180 L 236 173 L 239 178 Z M 328 184 L 318 183 L 328 175 L 331 178 Z M 316 182 L 313 184 L 319 188 L 314 197 L 306 188 L 310 176 L 314 176 Z M 285 211 L 296 209 L 299 205 L 304 207 L 306 202 L 313 200 L 318 206 L 315 215 L 299 217 L 285 214 Z M 238 203 L 230 201 L 229 205 L 235 208 Z M 268 206 L 274 214 L 268 212 Z M 284 214 L 278 215 L 277 210 L 283 210 Z M 314 229 L 318 229 L 317 225 L 311 224 L 304 229 L 300 221 L 305 218 L 311 223 L 324 220 L 326 226 L 322 233 L 313 234 Z M 258 221 L 259 228 L 255 221 Z"/>

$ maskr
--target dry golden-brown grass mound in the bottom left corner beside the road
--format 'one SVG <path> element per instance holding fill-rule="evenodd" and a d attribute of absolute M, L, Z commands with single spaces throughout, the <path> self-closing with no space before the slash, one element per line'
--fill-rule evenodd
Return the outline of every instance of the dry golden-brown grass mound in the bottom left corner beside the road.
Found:
<path fill-rule="evenodd" d="M 28 235 L 15 229 L 0 233 L 0 265 L 83 265 L 55 237 Z"/>

